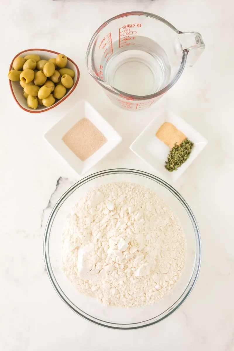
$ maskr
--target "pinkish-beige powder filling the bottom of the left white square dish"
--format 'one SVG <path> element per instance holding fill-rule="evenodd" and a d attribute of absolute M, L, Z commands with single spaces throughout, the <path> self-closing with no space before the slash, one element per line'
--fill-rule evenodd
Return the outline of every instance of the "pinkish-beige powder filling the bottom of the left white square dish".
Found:
<path fill-rule="evenodd" d="M 62 141 L 81 161 L 85 161 L 98 151 L 107 139 L 89 119 L 82 118 L 63 135 Z"/>

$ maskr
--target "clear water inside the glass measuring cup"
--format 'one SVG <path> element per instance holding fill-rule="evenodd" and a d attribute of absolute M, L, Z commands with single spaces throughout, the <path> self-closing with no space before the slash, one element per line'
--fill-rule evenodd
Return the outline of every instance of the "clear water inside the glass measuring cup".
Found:
<path fill-rule="evenodd" d="M 101 64 L 103 79 L 114 88 L 143 96 L 160 91 L 170 81 L 167 54 L 155 41 L 136 36 L 134 45 L 120 48 L 115 41 L 112 46 L 113 54 L 107 63 L 103 57 Z"/>

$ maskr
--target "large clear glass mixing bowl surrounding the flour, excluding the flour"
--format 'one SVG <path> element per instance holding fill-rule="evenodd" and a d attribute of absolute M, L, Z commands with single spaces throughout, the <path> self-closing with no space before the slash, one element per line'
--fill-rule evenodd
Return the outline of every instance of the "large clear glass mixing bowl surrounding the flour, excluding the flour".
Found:
<path fill-rule="evenodd" d="M 61 233 L 71 208 L 88 190 L 102 184 L 129 181 L 154 190 L 178 215 L 187 240 L 186 266 L 172 292 L 158 303 L 139 308 L 106 307 L 79 293 L 61 271 Z M 201 264 L 201 240 L 194 214 L 182 196 L 169 184 L 150 173 L 113 169 L 97 172 L 71 186 L 54 206 L 45 231 L 44 257 L 54 289 L 79 316 L 113 329 L 137 329 L 158 323 L 177 310 L 192 291 Z"/>

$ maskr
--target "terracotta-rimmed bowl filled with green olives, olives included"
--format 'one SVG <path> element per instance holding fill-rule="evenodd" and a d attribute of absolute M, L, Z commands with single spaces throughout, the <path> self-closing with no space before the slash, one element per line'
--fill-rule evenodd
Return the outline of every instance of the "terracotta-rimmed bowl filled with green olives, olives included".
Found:
<path fill-rule="evenodd" d="M 64 54 L 28 49 L 15 55 L 8 78 L 17 104 L 24 111 L 40 113 L 61 104 L 74 91 L 80 71 Z"/>

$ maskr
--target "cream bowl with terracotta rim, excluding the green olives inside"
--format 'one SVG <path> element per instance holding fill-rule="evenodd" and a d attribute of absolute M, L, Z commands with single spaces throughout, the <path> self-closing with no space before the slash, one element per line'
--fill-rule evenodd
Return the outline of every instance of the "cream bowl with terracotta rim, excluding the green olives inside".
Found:
<path fill-rule="evenodd" d="M 28 49 L 28 50 L 21 51 L 17 55 L 15 55 L 15 57 L 13 58 L 11 65 L 10 65 L 10 68 L 9 68 L 9 71 L 11 71 L 13 61 L 16 57 L 18 57 L 18 56 L 24 57 L 24 56 L 30 55 L 30 54 L 39 55 L 41 60 L 49 60 L 51 58 L 55 58 L 59 54 L 59 52 L 46 50 L 46 49 Z M 66 94 L 64 95 L 64 97 L 62 99 L 56 100 L 55 104 L 50 106 L 50 107 L 38 106 L 38 108 L 36 110 L 33 110 L 33 108 L 28 107 L 27 100 L 22 95 L 23 88 L 21 87 L 19 82 L 13 82 L 13 81 L 9 80 L 12 95 L 13 95 L 15 101 L 17 102 L 17 104 L 22 108 L 22 110 L 27 111 L 27 112 L 31 112 L 31 113 L 45 112 L 45 111 L 51 110 L 51 108 L 54 108 L 55 106 L 58 106 L 69 95 L 71 95 L 71 93 L 75 90 L 75 87 L 78 84 L 78 81 L 80 78 L 80 71 L 79 71 L 78 66 L 75 64 L 75 62 L 73 60 L 69 59 L 69 57 L 67 57 L 67 66 L 66 67 L 73 69 L 73 71 L 75 72 L 75 77 L 73 79 L 74 85 L 71 89 L 67 90 Z"/>

